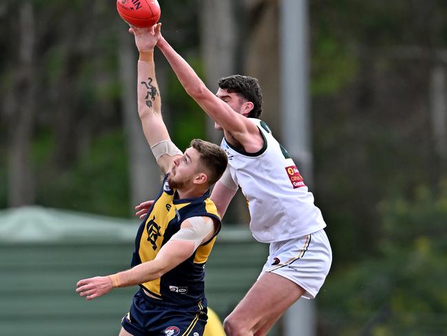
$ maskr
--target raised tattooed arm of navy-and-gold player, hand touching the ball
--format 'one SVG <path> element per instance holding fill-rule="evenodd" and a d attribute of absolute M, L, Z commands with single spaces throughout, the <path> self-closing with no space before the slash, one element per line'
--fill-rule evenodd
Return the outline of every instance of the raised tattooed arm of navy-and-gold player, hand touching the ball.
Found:
<path fill-rule="evenodd" d="M 138 59 L 138 115 L 143 125 L 143 132 L 149 146 L 156 154 L 156 148 L 171 144 L 171 138 L 161 115 L 161 97 L 155 76 L 154 46 L 160 38 L 160 24 L 151 28 L 129 29 L 135 36 L 136 47 L 140 53 Z M 160 150 L 158 150 L 160 152 Z M 169 152 L 169 154 L 165 154 Z M 176 148 L 167 148 L 157 155 L 157 163 L 163 172 L 167 172 L 177 155 L 182 155 Z"/>

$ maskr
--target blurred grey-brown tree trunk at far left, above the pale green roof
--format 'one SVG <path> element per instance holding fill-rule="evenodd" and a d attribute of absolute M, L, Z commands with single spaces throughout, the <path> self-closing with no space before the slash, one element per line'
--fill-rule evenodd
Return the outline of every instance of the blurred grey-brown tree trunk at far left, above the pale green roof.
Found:
<path fill-rule="evenodd" d="M 6 6 L 12 6 L 8 3 Z M 5 6 L 5 5 L 4 5 Z M 34 132 L 37 89 L 36 35 L 34 6 L 21 3 L 12 19 L 17 21 L 19 43 L 10 54 L 10 90 L 6 93 L 5 113 L 8 122 L 8 204 L 22 206 L 34 202 L 34 175 L 30 146 Z"/>

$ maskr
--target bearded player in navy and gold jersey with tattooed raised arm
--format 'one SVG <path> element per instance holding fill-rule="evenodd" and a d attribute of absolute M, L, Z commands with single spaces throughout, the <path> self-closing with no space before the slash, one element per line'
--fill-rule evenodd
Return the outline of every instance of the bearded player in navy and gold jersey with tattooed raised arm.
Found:
<path fill-rule="evenodd" d="M 140 52 L 138 114 L 165 179 L 138 229 L 132 268 L 80 280 L 76 292 L 91 300 L 114 287 L 138 284 L 120 336 L 201 336 L 207 323 L 205 262 L 220 230 L 209 188 L 227 168 L 227 155 L 200 139 L 192 140 L 184 154 L 172 143 L 155 77 L 153 50 L 160 26 L 129 31 Z"/>

